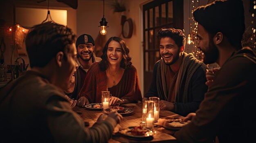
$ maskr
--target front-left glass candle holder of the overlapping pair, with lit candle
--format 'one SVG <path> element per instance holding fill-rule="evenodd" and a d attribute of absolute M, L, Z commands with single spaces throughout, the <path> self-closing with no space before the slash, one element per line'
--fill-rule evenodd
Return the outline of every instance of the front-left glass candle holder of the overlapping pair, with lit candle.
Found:
<path fill-rule="evenodd" d="M 154 101 L 146 100 L 146 128 L 154 128 Z"/>

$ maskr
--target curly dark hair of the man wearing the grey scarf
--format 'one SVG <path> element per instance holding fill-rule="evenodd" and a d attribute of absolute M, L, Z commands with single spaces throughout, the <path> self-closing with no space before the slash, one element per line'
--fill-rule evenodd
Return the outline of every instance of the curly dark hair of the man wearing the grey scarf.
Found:
<path fill-rule="evenodd" d="M 170 37 L 175 41 L 175 44 L 177 46 L 185 46 L 186 44 L 186 36 L 180 29 L 174 29 L 174 28 L 169 28 L 169 29 L 159 29 L 157 32 L 157 38 L 160 40 L 163 37 Z"/>

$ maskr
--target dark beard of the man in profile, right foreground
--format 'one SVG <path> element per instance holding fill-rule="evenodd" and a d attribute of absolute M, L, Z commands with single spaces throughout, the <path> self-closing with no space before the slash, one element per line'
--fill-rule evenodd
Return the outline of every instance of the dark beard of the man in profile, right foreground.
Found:
<path fill-rule="evenodd" d="M 218 48 L 213 43 L 213 40 L 211 38 L 209 39 L 208 50 L 204 52 L 204 64 L 213 64 L 217 61 L 218 57 L 219 57 Z"/>

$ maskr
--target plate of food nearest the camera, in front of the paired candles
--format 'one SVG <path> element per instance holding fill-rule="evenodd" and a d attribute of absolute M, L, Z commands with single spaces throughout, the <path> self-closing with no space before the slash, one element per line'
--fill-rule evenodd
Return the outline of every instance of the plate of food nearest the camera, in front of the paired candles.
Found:
<path fill-rule="evenodd" d="M 119 133 L 129 137 L 145 138 L 153 136 L 157 133 L 157 131 L 154 129 L 144 128 L 140 126 L 131 126 L 124 130 L 120 130 Z"/>

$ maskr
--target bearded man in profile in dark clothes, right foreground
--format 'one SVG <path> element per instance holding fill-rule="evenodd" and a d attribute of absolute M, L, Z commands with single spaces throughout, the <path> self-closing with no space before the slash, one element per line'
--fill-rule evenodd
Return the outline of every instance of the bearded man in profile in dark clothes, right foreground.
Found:
<path fill-rule="evenodd" d="M 198 22 L 198 48 L 204 62 L 216 62 L 220 70 L 191 122 L 175 132 L 178 141 L 249 143 L 255 139 L 256 51 L 242 48 L 245 16 L 242 0 L 214 1 L 198 7 L 193 16 Z M 249 117 L 249 118 L 246 118 Z"/>

